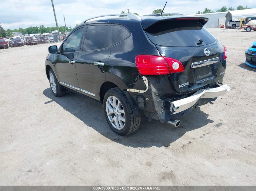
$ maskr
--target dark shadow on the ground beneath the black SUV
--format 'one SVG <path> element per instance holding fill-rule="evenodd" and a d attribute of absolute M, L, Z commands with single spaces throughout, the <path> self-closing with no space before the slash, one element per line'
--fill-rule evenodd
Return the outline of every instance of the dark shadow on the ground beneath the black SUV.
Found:
<path fill-rule="evenodd" d="M 213 123 L 211 119 L 207 119 L 209 115 L 197 107 L 186 116 L 179 117 L 181 125 L 177 128 L 168 123 L 160 123 L 157 120 L 148 122 L 146 118 L 142 118 L 141 125 L 135 133 L 119 136 L 108 126 L 101 103 L 71 91 L 67 91 L 67 94 L 63 97 L 55 97 L 51 89 L 47 88 L 43 91 L 43 94 L 51 99 L 45 102 L 45 104 L 52 101 L 58 103 L 66 111 L 83 121 L 87 126 L 95 129 L 101 135 L 129 147 L 169 147 L 172 142 L 176 141 L 186 132 L 201 128 L 208 123 Z"/>

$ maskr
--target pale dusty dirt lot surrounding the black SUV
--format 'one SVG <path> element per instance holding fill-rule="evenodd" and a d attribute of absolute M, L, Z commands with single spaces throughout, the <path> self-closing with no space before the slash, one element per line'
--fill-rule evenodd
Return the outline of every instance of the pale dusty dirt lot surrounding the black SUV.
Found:
<path fill-rule="evenodd" d="M 256 185 L 256 70 L 244 64 L 256 32 L 210 31 L 231 91 L 178 128 L 145 121 L 126 137 L 100 103 L 52 95 L 48 44 L 1 49 L 0 185 Z"/>

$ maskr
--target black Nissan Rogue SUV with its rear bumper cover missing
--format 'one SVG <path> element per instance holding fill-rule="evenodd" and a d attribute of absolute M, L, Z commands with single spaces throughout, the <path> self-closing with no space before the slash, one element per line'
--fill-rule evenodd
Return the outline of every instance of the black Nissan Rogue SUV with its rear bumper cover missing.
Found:
<path fill-rule="evenodd" d="M 125 16 L 86 20 L 48 48 L 56 97 L 71 90 L 100 101 L 111 129 L 128 135 L 142 114 L 177 127 L 176 117 L 230 90 L 222 84 L 227 50 L 204 29 L 207 18 L 115 15 Z"/>

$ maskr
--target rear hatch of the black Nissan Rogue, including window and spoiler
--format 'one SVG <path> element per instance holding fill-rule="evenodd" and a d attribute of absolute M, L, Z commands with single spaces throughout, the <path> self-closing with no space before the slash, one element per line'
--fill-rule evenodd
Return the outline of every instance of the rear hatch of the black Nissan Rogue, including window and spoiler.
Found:
<path fill-rule="evenodd" d="M 168 75 L 171 88 L 178 93 L 196 91 L 223 78 L 224 47 L 203 27 L 206 22 L 202 18 L 164 19 L 144 28 L 161 56 L 184 66 L 183 72 Z"/>

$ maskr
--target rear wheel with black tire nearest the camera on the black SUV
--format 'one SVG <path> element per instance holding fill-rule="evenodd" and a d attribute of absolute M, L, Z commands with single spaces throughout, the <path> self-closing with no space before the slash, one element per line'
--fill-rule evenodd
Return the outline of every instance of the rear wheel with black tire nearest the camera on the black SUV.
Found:
<path fill-rule="evenodd" d="M 129 135 L 139 128 L 141 117 L 134 115 L 130 102 L 119 88 L 106 92 L 103 108 L 108 125 L 116 134 Z"/>

